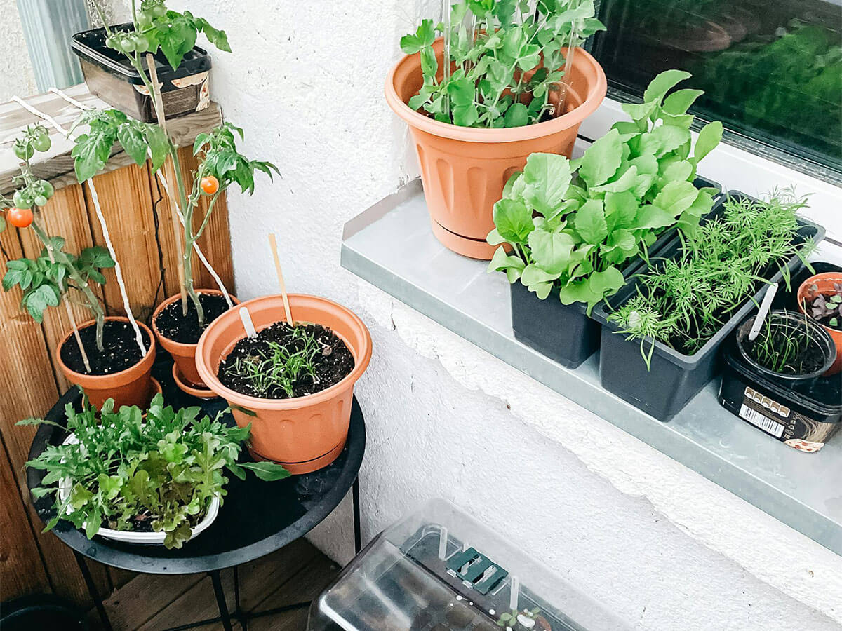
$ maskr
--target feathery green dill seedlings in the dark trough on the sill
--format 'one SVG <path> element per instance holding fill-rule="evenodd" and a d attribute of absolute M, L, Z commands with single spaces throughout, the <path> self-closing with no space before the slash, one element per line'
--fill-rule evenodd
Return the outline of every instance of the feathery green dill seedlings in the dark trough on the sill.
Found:
<path fill-rule="evenodd" d="M 678 257 L 642 274 L 637 295 L 609 321 L 627 340 L 640 340 L 647 367 L 656 341 L 696 353 L 775 271 L 789 288 L 791 257 L 809 267 L 814 244 L 797 238 L 796 212 L 806 205 L 792 188 L 773 190 L 768 201 L 729 197 L 721 215 L 682 237 Z"/>

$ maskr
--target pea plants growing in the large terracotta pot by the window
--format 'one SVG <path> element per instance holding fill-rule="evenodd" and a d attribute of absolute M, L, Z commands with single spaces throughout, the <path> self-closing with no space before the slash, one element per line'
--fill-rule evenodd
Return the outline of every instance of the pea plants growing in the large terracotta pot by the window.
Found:
<path fill-rule="evenodd" d="M 447 4 L 444 23 L 424 19 L 401 39 L 404 53 L 420 53 L 424 74 L 408 104 L 463 127 L 521 127 L 556 114 L 568 72 L 562 48 L 569 58 L 605 30 L 593 0 L 538 0 L 537 8 L 524 0 L 461 0 L 450 11 Z M 442 77 L 437 34 L 444 36 Z"/>

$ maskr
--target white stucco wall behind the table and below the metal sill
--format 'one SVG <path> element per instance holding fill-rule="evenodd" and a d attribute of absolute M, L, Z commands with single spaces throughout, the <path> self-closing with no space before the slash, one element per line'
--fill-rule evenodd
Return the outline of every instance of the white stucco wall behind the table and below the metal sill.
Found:
<path fill-rule="evenodd" d="M 290 291 L 349 305 L 374 337 L 358 389 L 366 540 L 443 496 L 638 628 L 839 628 L 838 556 L 340 268 L 344 222 L 414 171 L 382 83 L 434 3 L 172 4 L 227 30 L 211 92 L 283 174 L 230 196 L 237 294 L 276 291 L 274 231 Z M 312 539 L 349 559 L 347 501 Z"/>

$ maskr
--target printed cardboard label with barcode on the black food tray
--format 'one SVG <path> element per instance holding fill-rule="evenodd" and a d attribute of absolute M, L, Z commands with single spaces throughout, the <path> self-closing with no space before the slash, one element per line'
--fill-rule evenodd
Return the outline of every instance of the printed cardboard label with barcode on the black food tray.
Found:
<path fill-rule="evenodd" d="M 824 441 L 836 429 L 835 423 L 824 423 L 799 414 L 764 392 L 749 387 L 743 393 L 739 416 L 782 443 L 807 453 L 823 448 Z"/>

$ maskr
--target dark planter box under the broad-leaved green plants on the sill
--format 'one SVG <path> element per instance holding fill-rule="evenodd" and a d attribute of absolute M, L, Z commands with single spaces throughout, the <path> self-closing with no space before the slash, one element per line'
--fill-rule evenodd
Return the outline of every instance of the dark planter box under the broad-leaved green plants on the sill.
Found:
<path fill-rule="evenodd" d="M 578 367 L 600 347 L 600 323 L 588 317 L 587 305 L 562 305 L 558 289 L 540 300 L 518 281 L 511 300 L 514 339 L 564 368 Z"/>

